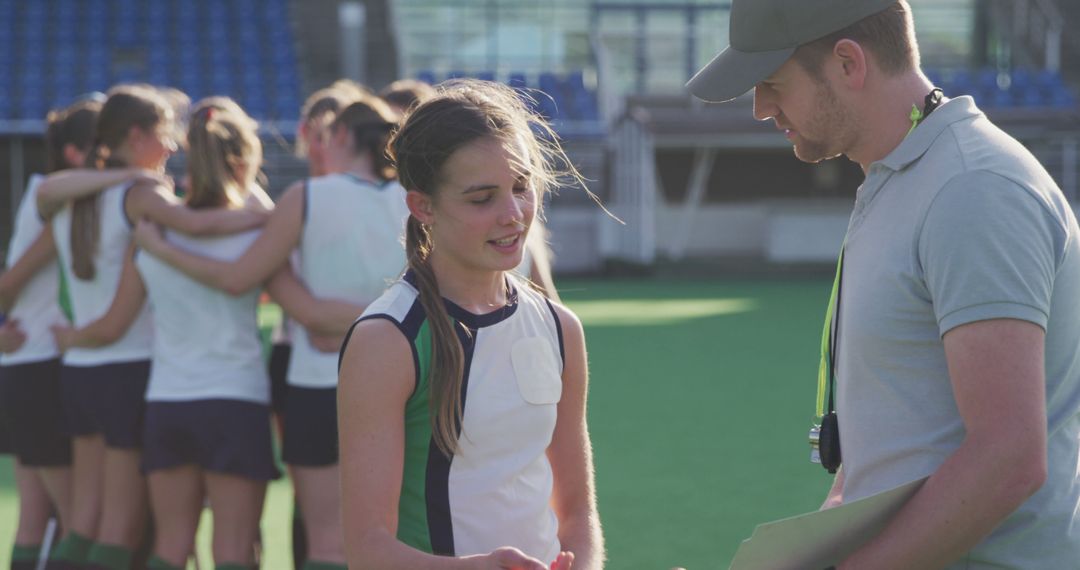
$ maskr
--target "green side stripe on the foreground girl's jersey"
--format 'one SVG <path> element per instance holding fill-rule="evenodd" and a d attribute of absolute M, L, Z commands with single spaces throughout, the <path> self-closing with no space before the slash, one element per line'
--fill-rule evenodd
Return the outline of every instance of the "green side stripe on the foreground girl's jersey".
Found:
<path fill-rule="evenodd" d="M 431 445 L 431 328 L 424 320 L 413 341 L 418 359 L 416 391 L 405 403 L 405 465 L 397 502 L 397 540 L 431 554 L 428 530 L 428 449 Z"/>

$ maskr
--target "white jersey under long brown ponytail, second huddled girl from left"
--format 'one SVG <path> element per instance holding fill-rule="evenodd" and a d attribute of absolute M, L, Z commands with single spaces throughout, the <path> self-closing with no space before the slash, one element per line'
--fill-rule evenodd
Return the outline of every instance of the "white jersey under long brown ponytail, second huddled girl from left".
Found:
<path fill-rule="evenodd" d="M 124 196 L 130 188 L 131 184 L 113 186 L 97 196 L 100 235 L 94 254 L 94 279 L 90 281 L 83 281 L 71 272 L 71 204 L 53 217 L 56 253 L 67 275 L 77 327 L 93 323 L 108 312 L 116 297 L 124 256 L 132 241 L 132 225 L 124 213 Z M 152 330 L 150 312 L 144 303 L 138 316 L 119 340 L 96 349 L 71 349 L 64 353 L 64 364 L 96 366 L 148 359 Z"/>

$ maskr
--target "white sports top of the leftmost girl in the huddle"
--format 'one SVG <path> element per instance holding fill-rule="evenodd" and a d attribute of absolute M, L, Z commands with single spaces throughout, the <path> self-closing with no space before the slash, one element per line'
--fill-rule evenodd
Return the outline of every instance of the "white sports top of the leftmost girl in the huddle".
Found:
<path fill-rule="evenodd" d="M 15 214 L 15 231 L 8 247 L 9 268 L 23 257 L 45 228 L 41 216 L 38 215 L 37 205 L 38 186 L 43 179 L 44 176 L 35 174 L 27 182 L 18 213 Z M 56 263 L 49 263 L 23 287 L 8 317 L 19 321 L 19 328 L 26 334 L 26 342 L 15 352 L 0 354 L 0 364 L 4 366 L 27 364 L 59 356 L 56 342 L 53 341 L 53 335 L 49 330 L 49 325 L 67 323 L 58 302 L 59 280 L 59 268 Z"/>

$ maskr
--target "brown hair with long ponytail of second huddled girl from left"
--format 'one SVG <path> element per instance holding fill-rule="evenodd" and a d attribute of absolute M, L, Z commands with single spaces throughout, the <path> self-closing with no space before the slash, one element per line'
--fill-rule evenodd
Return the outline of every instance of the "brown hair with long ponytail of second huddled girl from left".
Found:
<path fill-rule="evenodd" d="M 113 155 L 123 146 L 133 126 L 153 132 L 163 121 L 172 121 L 172 108 L 156 91 L 125 85 L 109 92 L 97 118 L 94 145 L 86 157 L 91 168 L 125 166 Z M 102 235 L 102 215 L 97 193 L 71 204 L 71 272 L 83 281 L 94 279 L 94 255 Z"/>

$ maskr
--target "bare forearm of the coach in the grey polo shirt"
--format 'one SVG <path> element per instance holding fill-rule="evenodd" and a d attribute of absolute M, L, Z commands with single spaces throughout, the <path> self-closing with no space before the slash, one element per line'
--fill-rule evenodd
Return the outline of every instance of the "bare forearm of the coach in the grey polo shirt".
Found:
<path fill-rule="evenodd" d="M 886 530 L 838 568 L 942 568 L 978 544 L 1045 476 L 1044 450 L 969 435 Z"/>

